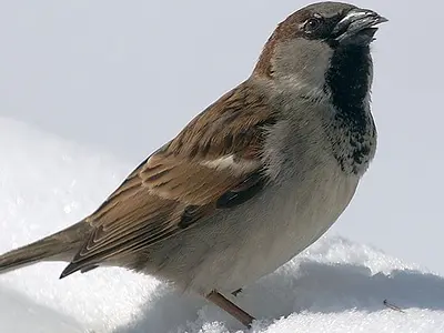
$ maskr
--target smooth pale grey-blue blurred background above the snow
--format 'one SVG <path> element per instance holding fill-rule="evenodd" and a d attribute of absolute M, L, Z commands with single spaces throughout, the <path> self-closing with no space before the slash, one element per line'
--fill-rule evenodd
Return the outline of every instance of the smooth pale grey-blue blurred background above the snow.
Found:
<path fill-rule="evenodd" d="M 373 44 L 380 142 L 330 233 L 444 273 L 442 4 L 354 3 L 390 19 Z M 1 0 L 0 117 L 135 167 L 244 80 L 275 24 L 305 4 Z"/>

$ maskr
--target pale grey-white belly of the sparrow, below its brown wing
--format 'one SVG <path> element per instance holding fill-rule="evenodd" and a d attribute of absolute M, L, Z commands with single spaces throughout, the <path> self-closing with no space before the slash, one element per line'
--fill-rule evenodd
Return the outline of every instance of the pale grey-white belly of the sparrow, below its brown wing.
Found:
<path fill-rule="evenodd" d="M 158 249 L 155 255 L 168 260 L 157 273 L 200 294 L 231 293 L 317 240 L 346 208 L 356 184 L 356 178 L 331 169 L 303 182 L 286 182 Z"/>

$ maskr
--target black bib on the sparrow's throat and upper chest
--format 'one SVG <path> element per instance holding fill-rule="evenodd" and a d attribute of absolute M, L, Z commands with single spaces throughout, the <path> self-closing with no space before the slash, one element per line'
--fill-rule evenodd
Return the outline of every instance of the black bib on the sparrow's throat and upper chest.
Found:
<path fill-rule="evenodd" d="M 370 47 L 337 46 L 325 74 L 325 90 L 331 93 L 334 130 L 344 134 L 345 142 L 336 142 L 335 158 L 343 171 L 362 173 L 375 150 L 376 130 L 365 99 L 370 90 L 372 60 Z"/>

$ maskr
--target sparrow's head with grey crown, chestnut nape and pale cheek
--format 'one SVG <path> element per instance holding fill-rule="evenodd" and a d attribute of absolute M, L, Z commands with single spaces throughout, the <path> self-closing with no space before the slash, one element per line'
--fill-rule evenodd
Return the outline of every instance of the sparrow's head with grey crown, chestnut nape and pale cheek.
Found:
<path fill-rule="evenodd" d="M 352 93 L 370 89 L 370 44 L 379 23 L 376 12 L 349 3 L 319 2 L 281 22 L 263 48 L 253 77 L 290 84 L 307 94 Z M 352 87 L 356 88 L 356 87 Z M 365 90 L 365 92 L 364 92 Z"/>

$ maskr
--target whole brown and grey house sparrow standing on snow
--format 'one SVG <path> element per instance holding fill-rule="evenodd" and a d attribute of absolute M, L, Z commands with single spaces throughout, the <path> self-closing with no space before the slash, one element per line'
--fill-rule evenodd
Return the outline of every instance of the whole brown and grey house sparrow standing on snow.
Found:
<path fill-rule="evenodd" d="M 0 256 L 0 272 L 121 266 L 202 295 L 245 325 L 233 293 L 316 241 L 376 149 L 374 11 L 340 2 L 281 22 L 244 82 L 195 117 L 77 224 Z"/>

